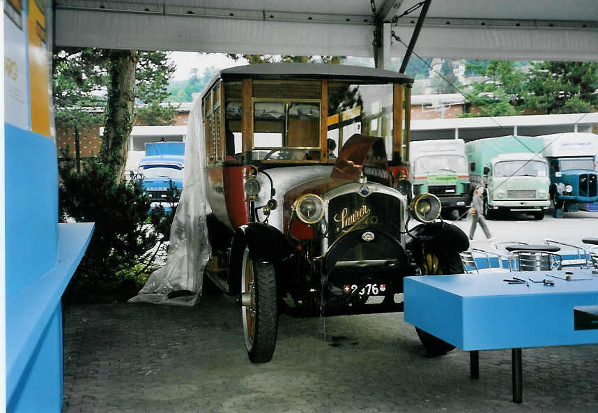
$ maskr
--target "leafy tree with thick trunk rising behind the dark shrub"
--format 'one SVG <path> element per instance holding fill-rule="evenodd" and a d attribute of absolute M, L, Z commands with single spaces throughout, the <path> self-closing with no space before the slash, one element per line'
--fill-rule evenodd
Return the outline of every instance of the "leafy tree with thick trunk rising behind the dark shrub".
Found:
<path fill-rule="evenodd" d="M 170 124 L 176 110 L 160 102 L 174 72 L 165 52 L 61 49 L 54 52 L 53 97 L 56 126 L 77 127 L 105 122 L 100 156 L 120 179 L 137 97 L 148 104 L 143 119 Z"/>

